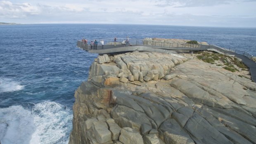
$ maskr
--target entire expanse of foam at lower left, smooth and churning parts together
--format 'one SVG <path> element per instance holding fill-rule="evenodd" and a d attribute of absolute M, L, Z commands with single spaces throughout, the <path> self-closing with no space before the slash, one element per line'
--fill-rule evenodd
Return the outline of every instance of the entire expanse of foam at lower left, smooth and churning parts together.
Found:
<path fill-rule="evenodd" d="M 72 111 L 56 102 L 0 109 L 2 144 L 67 144 L 71 129 Z"/>

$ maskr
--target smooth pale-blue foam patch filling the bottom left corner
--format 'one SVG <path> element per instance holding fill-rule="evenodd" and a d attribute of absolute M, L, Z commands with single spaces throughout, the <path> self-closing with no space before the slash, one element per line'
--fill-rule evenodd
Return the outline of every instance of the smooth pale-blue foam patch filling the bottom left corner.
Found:
<path fill-rule="evenodd" d="M 0 109 L 1 144 L 29 144 L 35 132 L 34 116 L 22 106 Z"/>

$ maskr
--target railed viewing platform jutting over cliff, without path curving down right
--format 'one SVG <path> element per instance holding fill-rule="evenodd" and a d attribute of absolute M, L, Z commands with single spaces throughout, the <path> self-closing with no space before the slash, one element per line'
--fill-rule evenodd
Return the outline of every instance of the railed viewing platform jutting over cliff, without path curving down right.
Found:
<path fill-rule="evenodd" d="M 104 39 L 104 45 L 98 41 L 97 50 L 94 50 L 94 46 L 88 43 L 77 41 L 77 47 L 82 48 L 90 53 L 107 54 L 115 52 L 130 52 L 130 51 L 147 51 L 147 52 L 161 52 L 161 53 L 176 53 L 175 51 L 199 51 L 208 50 L 224 54 L 228 50 L 220 48 L 216 45 L 201 45 L 201 44 L 189 44 L 189 43 L 170 43 L 159 42 L 156 40 L 142 40 L 142 39 L 129 39 L 128 43 L 122 43 L 125 38 L 119 38 L 120 41 L 114 42 L 113 39 Z M 92 48 L 91 48 L 92 47 Z M 230 51 L 228 51 L 230 52 Z"/>

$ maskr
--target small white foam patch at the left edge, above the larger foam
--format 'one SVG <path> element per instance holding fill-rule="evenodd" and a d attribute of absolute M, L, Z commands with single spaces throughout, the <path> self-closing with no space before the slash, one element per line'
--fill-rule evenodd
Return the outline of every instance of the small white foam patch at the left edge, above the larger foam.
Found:
<path fill-rule="evenodd" d="M 0 78 L 0 92 L 14 92 L 23 88 L 23 85 L 9 78 Z"/>

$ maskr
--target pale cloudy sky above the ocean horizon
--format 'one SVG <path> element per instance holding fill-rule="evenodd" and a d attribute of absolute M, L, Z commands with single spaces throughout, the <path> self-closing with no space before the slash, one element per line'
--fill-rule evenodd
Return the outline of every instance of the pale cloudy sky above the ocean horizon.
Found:
<path fill-rule="evenodd" d="M 256 0 L 0 0 L 0 22 L 256 27 Z"/>

